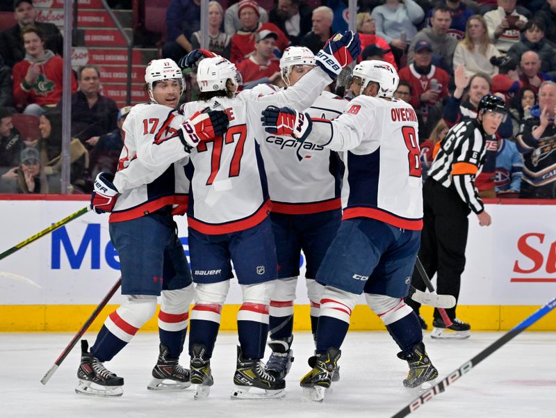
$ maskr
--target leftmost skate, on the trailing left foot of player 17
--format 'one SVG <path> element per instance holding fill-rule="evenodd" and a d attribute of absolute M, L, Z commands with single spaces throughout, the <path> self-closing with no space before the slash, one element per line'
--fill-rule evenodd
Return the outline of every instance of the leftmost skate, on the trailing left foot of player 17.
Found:
<path fill-rule="evenodd" d="M 89 344 L 81 340 L 81 364 L 77 370 L 79 383 L 75 388 L 77 394 L 88 396 L 113 397 L 122 396 L 124 378 L 112 373 L 97 357 L 88 352 Z"/>

